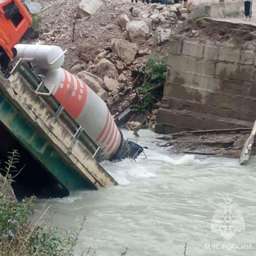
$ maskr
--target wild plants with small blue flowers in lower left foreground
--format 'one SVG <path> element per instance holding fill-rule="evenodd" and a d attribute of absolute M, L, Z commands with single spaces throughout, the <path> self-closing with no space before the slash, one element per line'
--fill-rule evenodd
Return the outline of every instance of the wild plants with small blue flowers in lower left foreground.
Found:
<path fill-rule="evenodd" d="M 15 163 L 19 162 L 17 151 L 11 152 L 2 171 L 6 176 L 0 186 L 0 194 L 6 193 L 4 188 L 7 183 L 12 182 L 12 173 L 19 171 L 15 168 Z M 14 175 L 15 176 L 15 175 Z M 7 178 L 8 177 L 8 178 Z M 0 198 L 0 250 L 4 256 L 71 256 L 73 255 L 80 231 L 82 230 L 84 220 L 78 232 L 74 230 L 62 233 L 57 227 L 46 227 L 41 225 L 44 213 L 32 219 L 33 200 L 35 197 L 23 199 L 21 202 L 11 202 Z"/>

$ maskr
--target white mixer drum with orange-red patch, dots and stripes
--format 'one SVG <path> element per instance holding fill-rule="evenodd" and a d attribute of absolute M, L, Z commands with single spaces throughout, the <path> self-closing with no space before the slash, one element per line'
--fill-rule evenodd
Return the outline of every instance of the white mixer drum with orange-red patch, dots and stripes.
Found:
<path fill-rule="evenodd" d="M 55 84 L 54 97 L 101 148 L 100 158 L 114 156 L 123 139 L 105 102 L 63 68 L 48 70 L 44 84 L 48 90 Z"/>

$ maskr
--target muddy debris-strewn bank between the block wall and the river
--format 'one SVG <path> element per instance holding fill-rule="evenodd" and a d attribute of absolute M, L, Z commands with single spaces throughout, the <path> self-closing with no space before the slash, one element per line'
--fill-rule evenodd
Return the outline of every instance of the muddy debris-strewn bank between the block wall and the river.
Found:
<path fill-rule="evenodd" d="M 231 129 L 232 130 L 232 129 Z M 218 132 L 195 131 L 177 132 L 172 135 L 157 136 L 164 140 L 159 142 L 160 147 L 167 147 L 171 154 L 193 154 L 201 156 L 218 156 L 239 158 L 245 141 L 249 137 L 250 129 L 238 129 L 235 131 Z M 196 134 L 198 133 L 198 134 Z M 252 147 L 251 155 L 255 155 L 255 147 Z"/>

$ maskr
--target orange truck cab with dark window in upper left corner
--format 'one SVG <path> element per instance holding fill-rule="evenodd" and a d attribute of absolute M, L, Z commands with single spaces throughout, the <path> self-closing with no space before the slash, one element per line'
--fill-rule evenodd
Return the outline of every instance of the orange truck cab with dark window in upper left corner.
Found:
<path fill-rule="evenodd" d="M 6 59 L 15 57 L 16 50 L 13 46 L 26 34 L 31 24 L 32 17 L 20 0 L 0 0 L 1 66 Z"/>

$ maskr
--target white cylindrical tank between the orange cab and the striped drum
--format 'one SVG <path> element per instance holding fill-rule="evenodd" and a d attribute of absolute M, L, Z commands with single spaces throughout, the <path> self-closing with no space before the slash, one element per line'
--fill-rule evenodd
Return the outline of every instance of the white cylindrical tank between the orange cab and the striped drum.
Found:
<path fill-rule="evenodd" d="M 40 68 L 57 69 L 64 63 L 64 52 L 59 46 L 16 44 L 17 56 L 14 60 L 27 59 L 35 60 Z"/>

